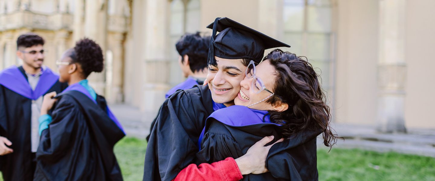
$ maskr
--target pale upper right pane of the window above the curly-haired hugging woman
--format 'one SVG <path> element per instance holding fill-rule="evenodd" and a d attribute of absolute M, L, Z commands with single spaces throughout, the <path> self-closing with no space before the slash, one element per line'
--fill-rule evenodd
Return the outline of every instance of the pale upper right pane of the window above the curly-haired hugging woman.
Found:
<path fill-rule="evenodd" d="M 308 31 L 331 32 L 331 8 L 308 6 Z"/>

